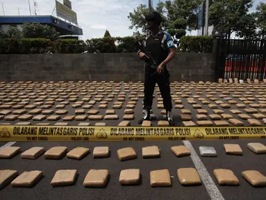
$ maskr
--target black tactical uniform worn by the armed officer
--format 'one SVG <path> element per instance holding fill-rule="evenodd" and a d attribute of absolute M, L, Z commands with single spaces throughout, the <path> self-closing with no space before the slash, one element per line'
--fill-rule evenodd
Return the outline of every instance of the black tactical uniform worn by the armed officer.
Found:
<path fill-rule="evenodd" d="M 140 119 L 139 124 L 144 120 L 150 119 L 150 110 L 153 102 L 153 91 L 156 83 L 160 88 L 160 94 L 163 97 L 163 105 L 167 110 L 167 120 L 169 124 L 174 125 L 172 119 L 172 97 L 170 92 L 169 72 L 164 66 L 163 74 L 158 74 L 157 67 L 162 63 L 169 54 L 169 49 L 174 47 L 174 41 L 169 33 L 159 31 L 156 35 L 150 34 L 144 41 L 144 47 L 151 55 L 151 59 L 145 60 L 145 76 L 144 76 L 144 117 Z M 138 52 L 140 53 L 140 51 Z M 156 63 L 156 65 L 153 65 Z"/>

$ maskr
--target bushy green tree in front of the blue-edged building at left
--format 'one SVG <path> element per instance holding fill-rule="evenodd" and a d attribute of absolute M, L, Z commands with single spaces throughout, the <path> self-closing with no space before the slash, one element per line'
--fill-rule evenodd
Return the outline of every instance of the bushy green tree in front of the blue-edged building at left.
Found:
<path fill-rule="evenodd" d="M 26 22 L 22 25 L 22 28 L 24 38 L 46 38 L 56 40 L 59 36 L 55 28 L 37 22 Z"/>

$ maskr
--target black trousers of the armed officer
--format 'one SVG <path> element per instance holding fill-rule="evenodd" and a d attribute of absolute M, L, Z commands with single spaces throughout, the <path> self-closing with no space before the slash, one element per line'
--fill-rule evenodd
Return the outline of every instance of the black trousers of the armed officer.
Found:
<path fill-rule="evenodd" d="M 160 94 L 163 97 L 163 106 L 165 110 L 172 110 L 172 97 L 170 91 L 169 72 L 165 70 L 164 74 L 156 73 L 157 69 L 145 65 L 144 80 L 144 109 L 150 110 L 153 101 L 153 91 L 156 83 L 160 88 Z"/>

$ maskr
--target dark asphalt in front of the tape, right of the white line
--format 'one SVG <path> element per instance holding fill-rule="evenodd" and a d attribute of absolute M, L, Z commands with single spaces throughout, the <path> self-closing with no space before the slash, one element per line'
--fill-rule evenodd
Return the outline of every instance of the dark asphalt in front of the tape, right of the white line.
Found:
<path fill-rule="evenodd" d="M 258 170 L 266 175 L 266 155 L 258 155 L 247 149 L 249 142 L 260 142 L 266 144 L 265 140 L 223 140 L 223 141 L 192 141 L 194 149 L 199 154 L 200 146 L 215 147 L 217 151 L 216 158 L 200 157 L 210 176 L 213 178 L 224 199 L 265 199 L 266 188 L 253 188 L 244 178 L 241 172 L 245 170 Z M 242 148 L 242 156 L 228 155 L 224 151 L 223 144 L 239 144 Z M 231 169 L 240 181 L 240 186 L 219 186 L 215 176 L 214 169 Z"/>

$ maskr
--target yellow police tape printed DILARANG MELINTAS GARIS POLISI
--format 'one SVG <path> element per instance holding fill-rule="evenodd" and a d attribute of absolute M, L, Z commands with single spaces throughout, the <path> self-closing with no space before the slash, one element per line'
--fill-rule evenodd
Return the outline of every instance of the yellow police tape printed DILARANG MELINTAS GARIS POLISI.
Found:
<path fill-rule="evenodd" d="M 0 126 L 0 141 L 174 141 L 266 139 L 266 126 Z"/>

